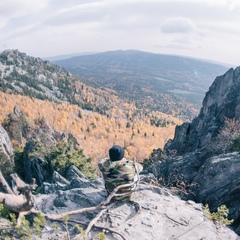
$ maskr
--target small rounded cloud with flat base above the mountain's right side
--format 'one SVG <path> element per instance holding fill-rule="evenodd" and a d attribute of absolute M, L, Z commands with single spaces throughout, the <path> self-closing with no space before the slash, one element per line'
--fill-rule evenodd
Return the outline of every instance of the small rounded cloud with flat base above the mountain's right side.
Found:
<path fill-rule="evenodd" d="M 189 18 L 168 18 L 161 23 L 163 33 L 190 33 L 197 31 L 197 26 Z"/>

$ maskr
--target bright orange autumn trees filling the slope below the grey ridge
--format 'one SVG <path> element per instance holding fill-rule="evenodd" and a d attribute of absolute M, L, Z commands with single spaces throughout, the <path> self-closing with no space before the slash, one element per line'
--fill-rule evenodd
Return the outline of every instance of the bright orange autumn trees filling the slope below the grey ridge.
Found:
<path fill-rule="evenodd" d="M 85 154 L 93 157 L 95 163 L 107 156 L 108 149 L 113 144 L 123 146 L 127 158 L 136 156 L 137 161 L 143 161 L 152 149 L 163 148 L 175 130 L 174 125 L 161 128 L 150 125 L 149 119 L 134 118 L 131 109 L 131 120 L 119 116 L 118 109 L 113 111 L 114 117 L 107 117 L 76 105 L 57 104 L 3 92 L 0 92 L 1 123 L 13 111 L 14 106 L 18 106 L 32 121 L 43 116 L 57 131 L 74 134 Z M 127 122 L 130 122 L 130 127 L 126 127 Z"/>

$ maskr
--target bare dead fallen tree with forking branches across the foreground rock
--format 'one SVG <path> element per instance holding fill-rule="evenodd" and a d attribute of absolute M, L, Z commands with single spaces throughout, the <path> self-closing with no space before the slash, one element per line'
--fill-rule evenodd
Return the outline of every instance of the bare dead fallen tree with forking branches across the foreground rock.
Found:
<path fill-rule="evenodd" d="M 5 178 L 3 177 L 1 171 L 0 171 L 0 184 L 3 186 L 4 190 L 7 193 L 1 193 L 0 192 L 0 203 L 3 203 L 9 210 L 14 211 L 19 213 L 19 218 L 21 218 L 24 215 L 33 213 L 36 214 L 39 211 L 36 211 L 34 207 L 34 199 L 32 196 L 32 190 L 34 190 L 37 185 L 35 184 L 35 180 L 31 184 L 26 184 L 24 183 L 18 176 L 17 174 L 11 174 L 12 178 L 12 185 L 13 185 L 13 190 L 9 187 L 8 183 L 6 182 Z M 61 214 L 56 214 L 56 215 L 50 215 L 50 214 L 43 214 L 47 219 L 53 220 L 53 221 L 64 221 L 64 217 L 66 215 L 74 215 L 74 214 L 80 214 L 84 212 L 90 212 L 90 211 L 96 211 L 98 209 L 104 208 L 103 211 L 97 214 L 97 216 L 90 221 L 90 223 L 87 226 L 86 233 L 88 234 L 92 227 L 96 227 L 98 229 L 105 229 L 111 233 L 119 235 L 122 239 L 126 240 L 122 234 L 117 232 L 116 230 L 113 230 L 108 227 L 101 227 L 97 226 L 96 222 L 98 219 L 101 217 L 103 212 L 107 211 L 110 209 L 115 203 L 112 203 L 107 206 L 107 204 L 112 200 L 114 196 L 124 196 L 125 193 L 123 194 L 118 194 L 118 190 L 122 188 L 128 188 L 132 187 L 135 182 L 130 183 L 130 184 L 123 184 L 120 186 L 117 186 L 110 194 L 109 196 L 100 204 L 97 206 L 93 207 L 88 207 L 88 208 L 82 208 L 82 209 L 77 209 L 74 211 L 69 211 Z M 20 195 L 19 192 L 21 193 Z M 71 220 L 69 220 L 71 221 Z M 18 219 L 18 224 L 21 224 L 21 219 Z M 87 224 L 85 224 L 87 225 Z"/>

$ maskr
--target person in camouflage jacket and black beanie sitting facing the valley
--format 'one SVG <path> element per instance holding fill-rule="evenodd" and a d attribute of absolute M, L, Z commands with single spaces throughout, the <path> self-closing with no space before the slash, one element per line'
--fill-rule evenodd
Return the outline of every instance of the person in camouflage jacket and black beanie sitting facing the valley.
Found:
<path fill-rule="evenodd" d="M 139 180 L 138 173 L 143 169 L 142 165 L 124 158 L 124 149 L 114 145 L 109 149 L 109 158 L 101 159 L 98 167 L 103 175 L 108 194 L 117 186 L 132 183 L 130 187 L 119 189 L 112 198 L 112 200 L 116 201 L 130 200 Z"/>

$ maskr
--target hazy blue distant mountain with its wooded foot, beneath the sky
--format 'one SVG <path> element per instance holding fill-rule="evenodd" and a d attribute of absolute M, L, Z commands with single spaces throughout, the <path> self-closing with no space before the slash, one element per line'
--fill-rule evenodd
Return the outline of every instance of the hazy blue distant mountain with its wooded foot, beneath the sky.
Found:
<path fill-rule="evenodd" d="M 193 118 L 213 80 L 228 70 L 216 63 L 135 50 L 55 61 L 85 83 L 110 88 L 139 108 Z"/>

